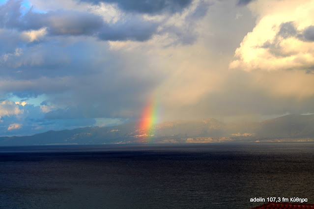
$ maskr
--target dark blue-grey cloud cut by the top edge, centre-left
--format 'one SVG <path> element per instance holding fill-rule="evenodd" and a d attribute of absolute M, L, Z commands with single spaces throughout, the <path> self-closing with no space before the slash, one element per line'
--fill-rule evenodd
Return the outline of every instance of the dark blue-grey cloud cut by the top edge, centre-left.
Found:
<path fill-rule="evenodd" d="M 156 14 L 164 11 L 180 12 L 190 5 L 192 0 L 81 0 L 93 4 L 100 2 L 116 3 L 120 9 L 126 12 L 143 14 Z"/>

